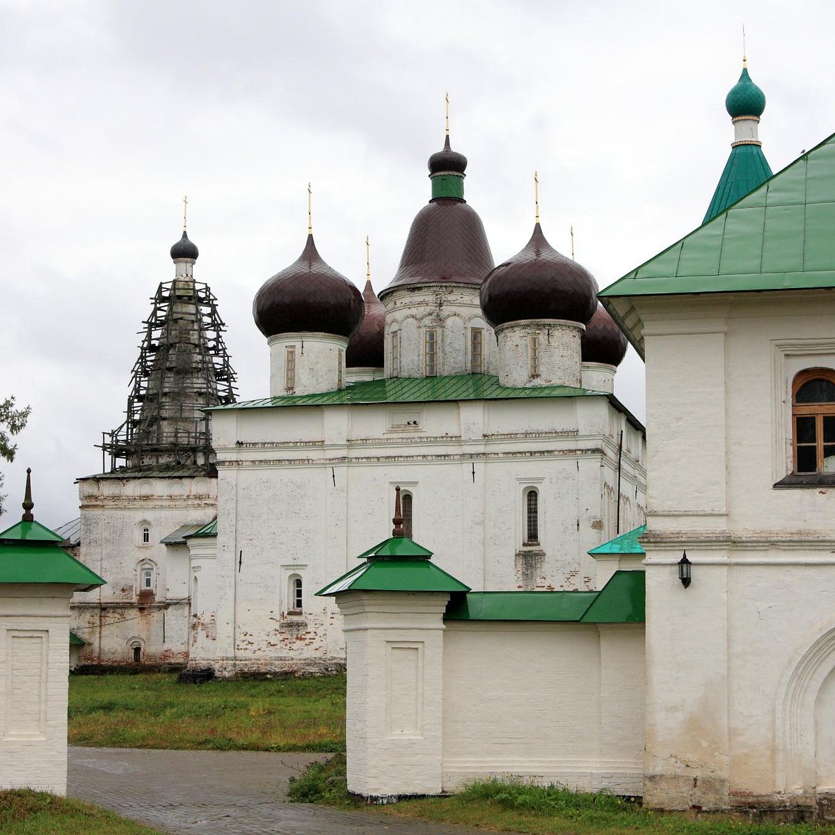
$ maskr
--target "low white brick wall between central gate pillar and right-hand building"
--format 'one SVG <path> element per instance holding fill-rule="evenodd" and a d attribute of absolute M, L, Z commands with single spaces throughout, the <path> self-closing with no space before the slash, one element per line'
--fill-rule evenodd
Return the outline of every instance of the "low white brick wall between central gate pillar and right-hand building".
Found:
<path fill-rule="evenodd" d="M 448 621 L 443 788 L 513 775 L 640 795 L 644 700 L 642 624 Z"/>

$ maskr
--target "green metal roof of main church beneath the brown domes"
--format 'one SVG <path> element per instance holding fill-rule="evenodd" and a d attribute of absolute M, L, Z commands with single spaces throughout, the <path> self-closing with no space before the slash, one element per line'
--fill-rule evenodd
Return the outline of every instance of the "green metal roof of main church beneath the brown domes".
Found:
<path fill-rule="evenodd" d="M 600 396 L 584 388 L 541 386 L 511 388 L 502 386 L 492 374 L 457 374 L 451 377 L 386 377 L 382 380 L 355 382 L 335 392 L 262 397 L 210 411 L 254 409 L 274 406 L 331 406 L 351 403 L 410 403 L 443 400 L 506 400 L 515 397 L 584 397 Z M 208 410 L 207 410 L 208 411 Z"/>

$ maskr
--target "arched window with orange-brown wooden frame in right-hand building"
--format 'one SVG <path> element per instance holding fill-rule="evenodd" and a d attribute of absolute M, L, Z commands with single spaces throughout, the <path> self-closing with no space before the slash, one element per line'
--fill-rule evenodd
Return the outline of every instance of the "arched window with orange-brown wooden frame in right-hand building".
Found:
<path fill-rule="evenodd" d="M 807 368 L 792 382 L 795 473 L 835 473 L 835 371 Z"/>

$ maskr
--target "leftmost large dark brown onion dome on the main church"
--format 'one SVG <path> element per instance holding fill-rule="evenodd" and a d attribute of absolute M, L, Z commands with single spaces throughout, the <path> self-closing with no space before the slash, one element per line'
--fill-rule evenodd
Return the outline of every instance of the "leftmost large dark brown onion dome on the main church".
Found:
<path fill-rule="evenodd" d="M 298 261 L 265 281 L 252 302 L 252 316 L 265 337 L 297 332 L 352 337 L 362 312 L 360 291 L 321 260 L 313 235 L 307 235 Z"/>

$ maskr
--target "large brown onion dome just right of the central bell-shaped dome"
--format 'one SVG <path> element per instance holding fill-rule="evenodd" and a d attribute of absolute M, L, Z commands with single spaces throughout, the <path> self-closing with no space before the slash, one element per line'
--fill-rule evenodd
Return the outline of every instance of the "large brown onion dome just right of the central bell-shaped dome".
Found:
<path fill-rule="evenodd" d="M 481 309 L 493 326 L 526 319 L 566 319 L 584 325 L 595 315 L 595 276 L 560 255 L 534 226 L 524 250 L 499 264 L 481 286 Z"/>

